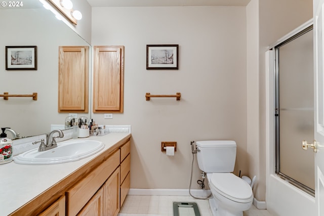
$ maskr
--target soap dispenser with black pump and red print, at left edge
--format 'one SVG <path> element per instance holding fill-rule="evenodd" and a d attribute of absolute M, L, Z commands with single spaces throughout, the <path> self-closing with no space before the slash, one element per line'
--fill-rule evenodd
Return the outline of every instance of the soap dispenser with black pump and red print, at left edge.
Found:
<path fill-rule="evenodd" d="M 7 138 L 5 133 L 7 127 L 2 127 L 0 135 L 0 164 L 9 163 L 13 158 L 12 140 Z"/>

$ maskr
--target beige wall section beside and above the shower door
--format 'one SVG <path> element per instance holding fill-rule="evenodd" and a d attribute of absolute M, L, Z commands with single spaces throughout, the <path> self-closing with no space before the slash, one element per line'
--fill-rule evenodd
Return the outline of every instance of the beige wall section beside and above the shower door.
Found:
<path fill-rule="evenodd" d="M 312 1 L 251 0 L 247 6 L 247 152 L 254 195 L 265 200 L 265 51 L 312 18 Z"/>

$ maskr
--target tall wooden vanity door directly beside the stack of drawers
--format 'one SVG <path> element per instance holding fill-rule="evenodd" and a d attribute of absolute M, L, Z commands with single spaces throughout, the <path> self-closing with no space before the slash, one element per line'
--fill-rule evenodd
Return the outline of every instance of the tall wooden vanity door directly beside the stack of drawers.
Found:
<path fill-rule="evenodd" d="M 103 185 L 104 189 L 104 215 L 115 216 L 119 212 L 119 167 L 111 174 L 109 179 Z"/>

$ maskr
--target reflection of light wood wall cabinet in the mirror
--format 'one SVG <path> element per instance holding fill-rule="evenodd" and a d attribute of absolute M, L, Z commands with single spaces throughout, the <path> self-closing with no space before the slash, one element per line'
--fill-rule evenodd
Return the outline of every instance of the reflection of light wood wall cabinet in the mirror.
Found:
<path fill-rule="evenodd" d="M 58 112 L 88 112 L 89 47 L 59 47 Z"/>

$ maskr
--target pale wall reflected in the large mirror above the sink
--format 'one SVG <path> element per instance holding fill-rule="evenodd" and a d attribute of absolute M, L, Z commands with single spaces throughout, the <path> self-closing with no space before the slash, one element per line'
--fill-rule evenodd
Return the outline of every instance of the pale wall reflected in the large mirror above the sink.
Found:
<path fill-rule="evenodd" d="M 68 116 L 68 113 L 58 113 L 59 46 L 90 48 L 90 45 L 38 0 L 25 1 L 22 8 L 1 7 L 0 28 L 0 94 L 38 94 L 36 101 L 1 97 L 0 126 L 11 127 L 21 137 L 48 133 L 51 124 L 64 124 Z M 6 70 L 6 46 L 37 46 L 37 70 Z M 90 111 L 80 115 L 90 118 Z"/>

